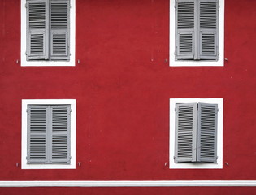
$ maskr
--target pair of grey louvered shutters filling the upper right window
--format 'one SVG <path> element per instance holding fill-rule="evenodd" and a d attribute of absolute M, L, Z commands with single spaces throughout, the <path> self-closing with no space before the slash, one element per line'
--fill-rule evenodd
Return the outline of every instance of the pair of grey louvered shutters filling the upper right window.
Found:
<path fill-rule="evenodd" d="M 219 0 L 176 0 L 176 60 L 219 59 Z"/>

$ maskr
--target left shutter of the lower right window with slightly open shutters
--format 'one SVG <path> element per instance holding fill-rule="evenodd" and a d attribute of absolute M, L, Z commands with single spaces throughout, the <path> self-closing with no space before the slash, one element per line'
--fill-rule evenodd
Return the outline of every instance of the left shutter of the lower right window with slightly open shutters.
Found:
<path fill-rule="evenodd" d="M 197 161 L 197 103 L 176 104 L 175 162 Z"/>

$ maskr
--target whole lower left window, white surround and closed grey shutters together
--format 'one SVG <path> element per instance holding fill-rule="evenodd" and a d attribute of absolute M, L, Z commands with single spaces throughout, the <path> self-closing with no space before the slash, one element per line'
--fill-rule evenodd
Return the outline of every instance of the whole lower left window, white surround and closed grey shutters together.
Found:
<path fill-rule="evenodd" d="M 23 100 L 23 168 L 76 166 L 75 107 L 75 100 Z"/>

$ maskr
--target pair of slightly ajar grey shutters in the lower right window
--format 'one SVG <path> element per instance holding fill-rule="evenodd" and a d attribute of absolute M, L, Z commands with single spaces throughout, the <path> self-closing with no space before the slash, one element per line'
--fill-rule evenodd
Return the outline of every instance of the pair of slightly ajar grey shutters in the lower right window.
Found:
<path fill-rule="evenodd" d="M 175 163 L 216 163 L 218 104 L 176 103 Z"/>

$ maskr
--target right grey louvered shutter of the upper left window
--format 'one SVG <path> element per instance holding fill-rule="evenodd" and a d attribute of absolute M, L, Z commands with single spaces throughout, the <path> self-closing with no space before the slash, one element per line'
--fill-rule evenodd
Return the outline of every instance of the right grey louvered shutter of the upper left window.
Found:
<path fill-rule="evenodd" d="M 59 6 L 54 6 L 59 4 Z M 62 4 L 62 6 L 60 6 Z M 67 4 L 67 13 L 63 6 Z M 69 60 L 70 59 L 70 0 L 51 0 L 50 1 L 50 59 L 55 60 Z M 63 11 L 62 15 L 67 16 L 67 27 L 58 28 L 54 27 L 54 20 L 56 15 L 54 11 Z M 67 14 L 67 15 L 66 15 Z M 53 16 L 54 15 L 54 16 Z M 63 20 L 62 20 L 63 22 Z"/>

